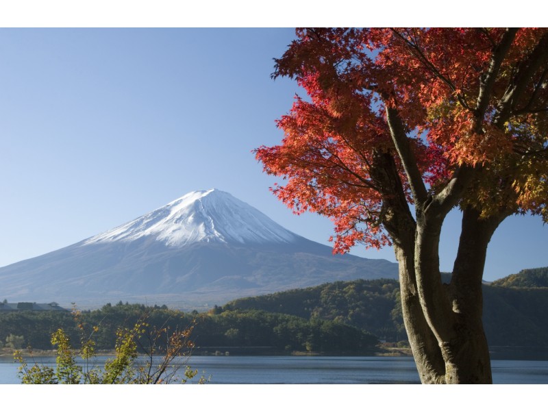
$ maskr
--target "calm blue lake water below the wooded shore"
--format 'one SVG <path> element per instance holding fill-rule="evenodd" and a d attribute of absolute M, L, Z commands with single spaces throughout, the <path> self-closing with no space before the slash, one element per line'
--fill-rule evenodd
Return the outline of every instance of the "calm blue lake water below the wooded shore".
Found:
<path fill-rule="evenodd" d="M 55 365 L 55 358 L 37 358 Z M 105 357 L 96 358 L 97 364 Z M 411 357 L 192 356 L 210 384 L 419 384 Z M 495 384 L 548 384 L 548 361 L 492 360 Z M 20 384 L 18 364 L 0 358 L 0 384 Z M 197 378 L 196 378 L 197 379 Z"/>

